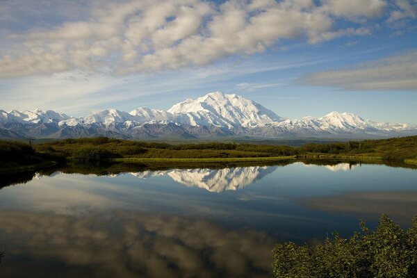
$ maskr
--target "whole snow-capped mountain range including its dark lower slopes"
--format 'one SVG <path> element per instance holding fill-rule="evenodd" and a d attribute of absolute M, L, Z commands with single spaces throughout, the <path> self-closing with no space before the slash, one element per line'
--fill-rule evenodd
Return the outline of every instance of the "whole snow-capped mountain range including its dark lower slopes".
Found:
<path fill-rule="evenodd" d="M 0 110 L 0 138 L 378 138 L 416 135 L 417 126 L 377 123 L 352 113 L 288 120 L 250 99 L 211 92 L 167 111 L 107 109 L 84 117 Z"/>

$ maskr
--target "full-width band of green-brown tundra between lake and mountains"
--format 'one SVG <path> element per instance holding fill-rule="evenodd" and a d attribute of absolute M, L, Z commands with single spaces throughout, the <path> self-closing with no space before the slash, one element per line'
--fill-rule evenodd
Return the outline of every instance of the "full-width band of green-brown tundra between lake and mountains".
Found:
<path fill-rule="evenodd" d="M 301 147 L 204 142 L 169 144 L 111 138 L 80 138 L 40 142 L 0 141 L 0 169 L 59 163 L 119 161 L 129 163 L 267 162 L 282 159 L 417 164 L 417 136 L 384 140 L 309 143 Z"/>

